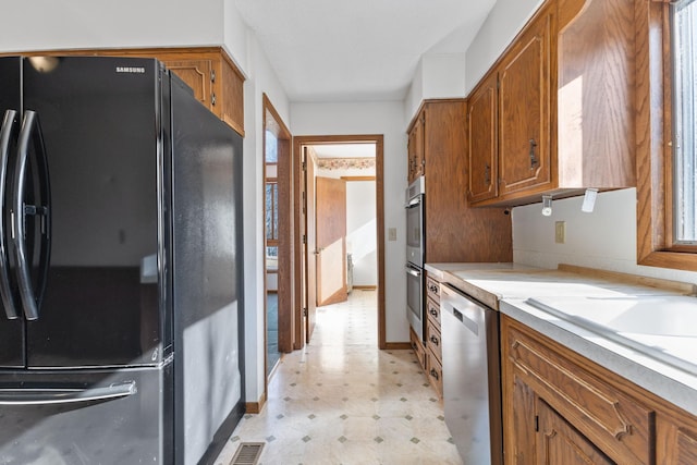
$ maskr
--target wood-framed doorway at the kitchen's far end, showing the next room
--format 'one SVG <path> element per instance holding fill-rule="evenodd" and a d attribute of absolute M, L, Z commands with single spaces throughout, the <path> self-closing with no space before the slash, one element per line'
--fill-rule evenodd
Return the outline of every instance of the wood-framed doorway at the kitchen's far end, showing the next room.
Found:
<path fill-rule="evenodd" d="M 294 232 L 297 237 L 295 242 L 295 273 L 296 277 L 299 277 L 295 283 L 295 292 L 299 298 L 294 315 L 296 331 L 294 348 L 302 348 L 311 338 L 318 294 L 321 299 L 322 292 L 318 290 L 318 286 L 322 285 L 322 281 L 326 280 L 326 277 L 322 276 L 322 268 L 327 266 L 330 267 L 327 277 L 333 278 L 333 281 L 337 282 L 335 287 L 330 287 L 326 292 L 329 297 L 327 302 L 345 301 L 350 292 L 377 287 L 377 343 L 379 348 L 386 348 L 383 138 L 381 135 L 297 136 L 293 140 L 296 167 L 294 173 L 294 192 L 296 193 Z M 337 156 L 335 154 L 341 150 L 344 150 L 343 155 Z M 350 155 L 351 150 L 354 150 L 353 156 Z M 370 152 L 370 157 L 365 156 L 366 150 Z M 363 170 L 368 164 L 371 166 L 372 171 Z M 343 173 L 341 173 L 342 169 Z M 321 208 L 319 201 L 323 195 L 320 189 L 323 189 L 325 181 L 320 181 L 320 179 L 327 178 L 338 180 L 328 182 L 331 185 L 329 196 L 333 197 L 331 201 L 341 203 L 343 195 L 346 210 L 337 216 L 337 219 L 318 222 L 318 218 L 323 216 L 321 211 L 317 211 Z M 355 208 L 351 213 L 347 209 L 351 208 L 351 197 L 355 196 L 352 193 L 356 192 L 356 187 L 364 192 L 367 185 L 372 187 L 372 196 L 368 201 L 375 207 L 375 213 L 371 220 L 365 221 L 365 219 L 356 218 Z M 335 207 L 329 208 L 330 210 L 335 209 Z M 330 223 L 330 229 L 333 229 L 334 222 L 339 221 L 342 216 L 344 224 L 339 227 L 339 233 L 332 231 L 333 236 L 329 236 L 329 242 L 322 244 L 321 238 L 318 242 L 318 235 L 323 233 L 321 229 L 328 223 Z M 356 227 L 356 222 L 362 223 Z M 363 234 L 363 238 L 357 237 L 360 234 Z M 365 237 L 370 237 L 370 240 L 364 241 Z M 327 246 L 330 245 L 334 245 L 338 252 L 334 250 L 331 258 L 323 257 Z M 370 245 L 372 245 L 372 249 L 370 249 Z M 372 265 L 372 270 L 368 271 L 368 274 L 372 274 L 371 283 L 365 284 L 363 282 L 365 279 L 364 268 L 370 268 L 370 265 L 367 267 L 364 265 L 370 262 L 369 259 L 366 259 L 370 253 L 372 253 L 372 259 L 376 264 Z M 360 262 L 359 270 L 356 269 L 358 262 Z M 358 278 L 359 282 L 356 282 L 357 271 L 363 273 Z M 337 279 L 338 276 L 339 279 Z"/>

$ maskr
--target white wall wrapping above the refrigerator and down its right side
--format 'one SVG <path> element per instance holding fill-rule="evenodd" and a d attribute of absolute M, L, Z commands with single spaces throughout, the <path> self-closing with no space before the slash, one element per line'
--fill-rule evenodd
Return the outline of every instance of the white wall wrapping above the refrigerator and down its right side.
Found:
<path fill-rule="evenodd" d="M 1 51 L 223 46 L 244 85 L 244 273 L 246 401 L 264 393 L 262 112 L 266 93 L 290 126 L 290 103 L 255 35 L 224 0 L 24 0 L 0 15 Z"/>

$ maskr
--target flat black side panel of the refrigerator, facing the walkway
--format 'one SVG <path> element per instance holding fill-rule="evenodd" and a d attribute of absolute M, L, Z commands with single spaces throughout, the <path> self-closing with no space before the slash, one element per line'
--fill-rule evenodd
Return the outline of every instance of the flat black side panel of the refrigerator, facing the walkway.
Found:
<path fill-rule="evenodd" d="M 178 463 L 194 464 L 244 412 L 242 138 L 174 78 L 172 109 Z"/>

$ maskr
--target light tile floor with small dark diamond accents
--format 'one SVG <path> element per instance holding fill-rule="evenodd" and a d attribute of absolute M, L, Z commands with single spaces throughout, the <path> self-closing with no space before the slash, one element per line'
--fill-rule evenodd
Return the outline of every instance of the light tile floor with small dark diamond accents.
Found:
<path fill-rule="evenodd" d="M 228 465 L 241 442 L 265 442 L 264 465 L 462 464 L 412 351 L 377 348 L 375 291 L 318 308 L 313 340 L 284 354 L 268 391 L 216 465 Z"/>

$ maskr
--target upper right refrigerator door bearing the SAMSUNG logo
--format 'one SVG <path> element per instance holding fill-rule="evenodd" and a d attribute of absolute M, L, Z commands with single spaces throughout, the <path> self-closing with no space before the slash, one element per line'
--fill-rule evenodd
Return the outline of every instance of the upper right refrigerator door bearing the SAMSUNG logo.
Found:
<path fill-rule="evenodd" d="M 27 367 L 157 365 L 169 313 L 145 257 L 162 257 L 162 118 L 155 60 L 24 59 L 24 111 L 40 121 L 50 172 L 46 292 L 27 325 Z M 167 105 L 167 101 L 166 103 Z M 29 159 L 25 204 L 39 197 Z M 25 216 L 27 259 L 40 285 L 41 225 Z"/>

